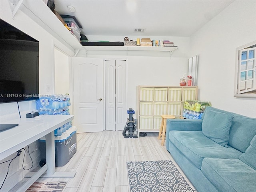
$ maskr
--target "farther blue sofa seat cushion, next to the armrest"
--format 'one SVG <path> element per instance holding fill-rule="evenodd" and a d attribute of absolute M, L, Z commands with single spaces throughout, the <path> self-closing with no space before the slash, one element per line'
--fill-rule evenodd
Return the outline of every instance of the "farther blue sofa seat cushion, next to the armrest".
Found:
<path fill-rule="evenodd" d="M 169 139 L 184 156 L 198 169 L 201 169 L 205 157 L 238 158 L 242 153 L 232 147 L 223 147 L 202 131 L 170 131 Z"/>

